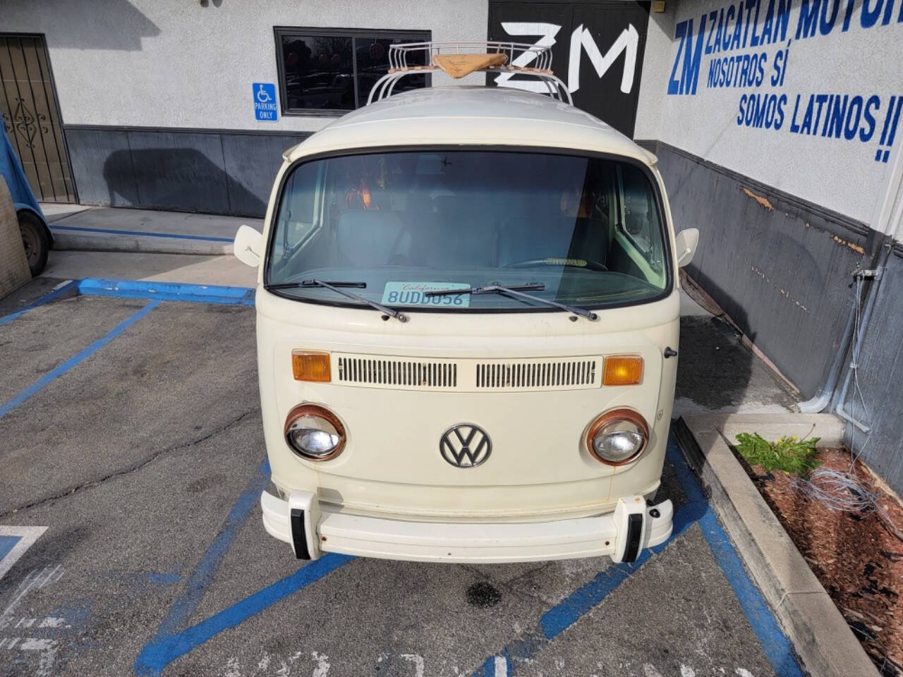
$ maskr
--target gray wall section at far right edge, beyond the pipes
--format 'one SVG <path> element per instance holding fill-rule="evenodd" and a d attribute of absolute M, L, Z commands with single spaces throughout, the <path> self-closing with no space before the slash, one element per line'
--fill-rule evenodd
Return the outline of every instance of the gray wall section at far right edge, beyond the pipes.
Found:
<path fill-rule="evenodd" d="M 859 386 L 851 384 L 844 408 L 872 429 L 847 426 L 847 442 L 866 464 L 903 494 L 903 250 L 890 255 L 860 352 Z M 863 405 L 862 400 L 865 403 Z M 854 433 L 854 434 L 853 434 Z"/>

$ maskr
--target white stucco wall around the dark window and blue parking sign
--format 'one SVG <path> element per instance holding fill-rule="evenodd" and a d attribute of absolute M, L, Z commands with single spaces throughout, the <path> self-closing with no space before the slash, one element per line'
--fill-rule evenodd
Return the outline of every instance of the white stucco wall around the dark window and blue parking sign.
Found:
<path fill-rule="evenodd" d="M 254 119 L 252 83 L 277 82 L 274 26 L 485 40 L 488 11 L 487 0 L 0 0 L 0 32 L 46 35 L 66 124 L 307 131 L 332 118 Z"/>

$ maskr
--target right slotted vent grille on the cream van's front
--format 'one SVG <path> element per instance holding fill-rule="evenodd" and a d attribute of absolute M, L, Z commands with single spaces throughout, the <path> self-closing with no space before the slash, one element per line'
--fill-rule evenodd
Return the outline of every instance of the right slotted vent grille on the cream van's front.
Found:
<path fill-rule="evenodd" d="M 478 388 L 561 388 L 596 383 L 596 360 L 570 362 L 482 363 Z"/>

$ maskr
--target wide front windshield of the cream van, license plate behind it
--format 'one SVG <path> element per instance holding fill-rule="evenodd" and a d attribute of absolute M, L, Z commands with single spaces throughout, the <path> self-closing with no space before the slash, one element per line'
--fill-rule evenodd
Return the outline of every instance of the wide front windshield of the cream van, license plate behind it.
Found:
<path fill-rule="evenodd" d="M 265 282 L 304 301 L 361 305 L 327 286 L 301 286 L 317 280 L 355 283 L 359 297 L 409 311 L 548 311 L 504 293 L 425 294 L 535 284 L 535 296 L 600 308 L 666 292 L 665 242 L 656 190 L 630 162 L 496 150 L 369 153 L 305 162 L 288 174 Z"/>

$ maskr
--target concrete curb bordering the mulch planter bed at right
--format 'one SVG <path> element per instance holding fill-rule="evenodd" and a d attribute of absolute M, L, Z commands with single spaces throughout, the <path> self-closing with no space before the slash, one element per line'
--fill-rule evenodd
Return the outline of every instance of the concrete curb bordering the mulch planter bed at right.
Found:
<path fill-rule="evenodd" d="M 832 414 L 703 414 L 686 416 L 675 435 L 694 466 L 737 552 L 774 609 L 807 672 L 818 677 L 879 677 L 850 626 L 753 485 L 729 441 L 737 432 L 820 437 L 839 446 L 843 424 Z"/>

